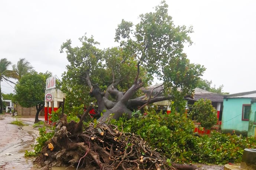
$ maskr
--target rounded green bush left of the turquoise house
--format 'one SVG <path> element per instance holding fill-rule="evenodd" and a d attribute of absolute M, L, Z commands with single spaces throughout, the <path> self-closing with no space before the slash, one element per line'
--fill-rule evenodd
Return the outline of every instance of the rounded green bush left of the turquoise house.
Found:
<path fill-rule="evenodd" d="M 199 99 L 192 105 L 191 116 L 205 129 L 211 129 L 217 123 L 217 110 L 209 99 Z"/>

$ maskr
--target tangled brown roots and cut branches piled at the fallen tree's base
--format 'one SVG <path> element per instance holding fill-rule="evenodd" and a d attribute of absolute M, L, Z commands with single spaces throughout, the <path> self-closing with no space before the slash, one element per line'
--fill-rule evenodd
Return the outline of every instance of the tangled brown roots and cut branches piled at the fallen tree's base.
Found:
<path fill-rule="evenodd" d="M 91 108 L 89 108 L 91 109 Z M 76 167 L 88 170 L 156 169 L 194 170 L 191 164 L 175 164 L 156 152 L 140 136 L 124 133 L 114 125 L 91 123 L 83 127 L 83 119 L 67 122 L 66 115 L 56 126 L 56 133 L 46 142 L 35 162 L 41 169 L 53 166 Z"/>

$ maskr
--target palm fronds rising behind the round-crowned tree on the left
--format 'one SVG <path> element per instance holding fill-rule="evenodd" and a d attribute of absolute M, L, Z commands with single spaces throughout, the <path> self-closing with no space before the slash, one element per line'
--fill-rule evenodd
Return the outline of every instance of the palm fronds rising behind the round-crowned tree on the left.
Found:
<path fill-rule="evenodd" d="M 25 58 L 20 58 L 20 60 L 17 62 L 17 65 L 13 65 L 13 70 L 16 71 L 17 79 L 19 80 L 24 74 L 32 70 L 32 66 L 30 65 L 30 62 L 26 61 Z"/>

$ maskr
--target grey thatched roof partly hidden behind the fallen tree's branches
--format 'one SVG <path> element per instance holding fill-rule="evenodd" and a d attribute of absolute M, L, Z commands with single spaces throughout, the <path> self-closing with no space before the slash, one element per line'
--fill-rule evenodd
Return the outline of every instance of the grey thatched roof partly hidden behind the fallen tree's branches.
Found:
<path fill-rule="evenodd" d="M 161 86 L 162 85 L 162 86 Z M 144 93 L 147 93 L 147 95 L 150 95 L 151 91 L 154 89 L 152 92 L 152 96 L 157 95 L 158 92 L 163 90 L 163 84 L 156 84 L 147 88 L 142 88 L 141 90 Z M 161 96 L 162 92 L 158 94 L 158 96 Z M 198 99 L 209 99 L 212 102 L 223 102 L 223 95 L 218 94 L 218 93 L 213 93 L 209 92 L 200 88 L 195 88 L 194 89 L 194 98 L 186 98 L 187 100 L 190 101 L 197 101 Z"/>

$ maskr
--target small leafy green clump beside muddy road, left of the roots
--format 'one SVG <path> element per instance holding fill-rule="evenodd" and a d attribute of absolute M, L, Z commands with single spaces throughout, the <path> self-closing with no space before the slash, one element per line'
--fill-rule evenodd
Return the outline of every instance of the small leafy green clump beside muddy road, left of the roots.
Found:
<path fill-rule="evenodd" d="M 46 127 L 43 126 L 43 128 L 39 128 L 39 137 L 36 139 L 36 144 L 32 145 L 34 147 L 34 152 L 33 151 L 25 151 L 24 156 L 37 156 L 42 150 L 42 148 L 45 146 L 45 142 L 49 139 L 51 139 L 54 135 L 53 129 L 50 132 L 46 131 Z"/>

